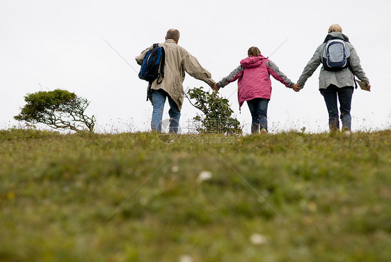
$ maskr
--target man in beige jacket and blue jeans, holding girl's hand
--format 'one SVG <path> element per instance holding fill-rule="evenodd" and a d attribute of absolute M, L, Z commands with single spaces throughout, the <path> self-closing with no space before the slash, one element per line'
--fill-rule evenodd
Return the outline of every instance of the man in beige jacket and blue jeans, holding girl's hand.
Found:
<path fill-rule="evenodd" d="M 183 86 L 184 72 L 187 72 L 192 77 L 202 80 L 209 86 L 214 85 L 212 75 L 205 68 L 202 68 L 196 57 L 192 56 L 183 47 L 178 45 L 179 31 L 170 29 L 167 31 L 166 42 L 159 44 L 166 52 L 166 60 L 164 61 L 164 78 L 161 84 L 157 84 L 157 80 L 152 82 L 150 100 L 153 105 L 152 111 L 152 131 L 161 132 L 161 118 L 163 116 L 164 104 L 166 98 L 170 104 L 170 132 L 178 132 L 179 118 L 183 104 Z M 148 47 L 139 56 L 136 56 L 137 63 L 141 66 L 145 54 L 152 49 Z"/>

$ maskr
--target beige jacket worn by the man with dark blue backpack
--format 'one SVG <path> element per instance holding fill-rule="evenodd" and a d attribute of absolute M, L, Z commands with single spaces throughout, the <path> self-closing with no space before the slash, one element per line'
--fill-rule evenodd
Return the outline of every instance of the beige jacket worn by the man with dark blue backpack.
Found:
<path fill-rule="evenodd" d="M 170 95 L 170 97 L 177 103 L 179 110 L 182 109 L 183 104 L 183 86 L 184 72 L 187 72 L 192 77 L 202 80 L 203 82 L 213 86 L 214 80 L 208 70 L 202 68 L 196 57 L 192 56 L 183 47 L 175 44 L 172 39 L 166 40 L 165 43 L 159 44 L 159 47 L 164 47 L 166 52 L 166 61 L 164 65 L 164 78 L 161 84 L 157 84 L 157 80 L 152 83 L 152 89 L 163 89 Z M 141 66 L 145 54 L 152 49 L 148 47 L 139 56 L 136 56 L 137 63 Z M 153 104 L 153 101 L 150 97 Z"/>

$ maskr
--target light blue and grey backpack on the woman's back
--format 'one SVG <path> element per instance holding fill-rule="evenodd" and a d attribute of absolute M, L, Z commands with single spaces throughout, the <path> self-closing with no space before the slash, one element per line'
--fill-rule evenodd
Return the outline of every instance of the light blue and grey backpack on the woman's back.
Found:
<path fill-rule="evenodd" d="M 342 39 L 328 40 L 324 47 L 323 67 L 327 71 L 339 71 L 349 66 L 350 51 Z"/>

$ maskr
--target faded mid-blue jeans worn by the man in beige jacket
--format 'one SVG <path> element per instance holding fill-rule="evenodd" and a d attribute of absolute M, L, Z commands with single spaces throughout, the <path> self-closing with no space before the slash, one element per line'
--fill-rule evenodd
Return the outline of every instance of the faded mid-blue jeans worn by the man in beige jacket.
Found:
<path fill-rule="evenodd" d="M 168 98 L 168 103 L 170 104 L 170 110 L 168 111 L 168 115 L 170 116 L 170 132 L 177 133 L 179 118 L 181 116 L 177 103 L 163 89 L 152 89 L 151 96 L 153 102 L 152 131 L 161 132 L 161 118 L 163 118 L 164 104 L 166 103 L 166 98 Z"/>

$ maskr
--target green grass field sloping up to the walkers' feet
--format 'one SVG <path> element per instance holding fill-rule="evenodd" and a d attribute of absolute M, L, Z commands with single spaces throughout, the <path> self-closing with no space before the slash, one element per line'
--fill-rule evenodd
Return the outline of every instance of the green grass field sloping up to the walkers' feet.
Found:
<path fill-rule="evenodd" d="M 0 261 L 391 259 L 391 130 L 1 130 L 0 164 Z"/>

